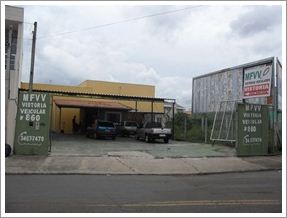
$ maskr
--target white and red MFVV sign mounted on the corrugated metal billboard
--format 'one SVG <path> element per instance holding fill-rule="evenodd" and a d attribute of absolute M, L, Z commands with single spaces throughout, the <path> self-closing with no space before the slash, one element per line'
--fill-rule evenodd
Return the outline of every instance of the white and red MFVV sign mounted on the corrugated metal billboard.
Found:
<path fill-rule="evenodd" d="M 272 64 L 244 69 L 243 98 L 270 96 Z"/>

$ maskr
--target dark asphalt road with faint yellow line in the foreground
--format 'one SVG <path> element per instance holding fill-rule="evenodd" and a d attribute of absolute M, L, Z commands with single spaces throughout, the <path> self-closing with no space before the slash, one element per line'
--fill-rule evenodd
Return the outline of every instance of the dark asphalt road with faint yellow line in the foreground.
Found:
<path fill-rule="evenodd" d="M 8 213 L 281 212 L 281 171 L 202 176 L 6 175 Z"/>

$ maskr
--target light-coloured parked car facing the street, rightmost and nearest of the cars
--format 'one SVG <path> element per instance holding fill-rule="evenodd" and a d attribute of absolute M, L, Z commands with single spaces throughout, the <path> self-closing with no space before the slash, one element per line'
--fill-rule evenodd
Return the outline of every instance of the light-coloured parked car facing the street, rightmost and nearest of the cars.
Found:
<path fill-rule="evenodd" d="M 159 122 L 147 122 L 142 128 L 137 129 L 136 139 L 144 139 L 146 142 L 155 139 L 163 139 L 165 143 L 171 138 L 171 129 L 164 128 Z"/>

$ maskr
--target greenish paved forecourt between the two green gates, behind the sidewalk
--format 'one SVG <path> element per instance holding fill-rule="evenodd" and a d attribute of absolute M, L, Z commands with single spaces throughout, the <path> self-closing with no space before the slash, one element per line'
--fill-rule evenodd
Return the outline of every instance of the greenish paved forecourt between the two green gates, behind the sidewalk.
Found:
<path fill-rule="evenodd" d="M 141 152 L 154 158 L 230 157 L 235 148 L 223 145 L 157 140 L 146 143 L 134 137 L 91 139 L 83 135 L 52 135 L 51 156 L 105 156 L 117 152 Z"/>

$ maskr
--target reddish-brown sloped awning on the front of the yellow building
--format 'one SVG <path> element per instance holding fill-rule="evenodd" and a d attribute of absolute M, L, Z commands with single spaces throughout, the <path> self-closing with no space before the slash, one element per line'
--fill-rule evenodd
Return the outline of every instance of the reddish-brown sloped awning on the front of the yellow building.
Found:
<path fill-rule="evenodd" d="M 55 104 L 59 107 L 72 107 L 72 108 L 106 108 L 118 110 L 132 110 L 132 108 L 118 102 L 112 101 L 88 101 L 76 99 L 55 99 Z"/>

